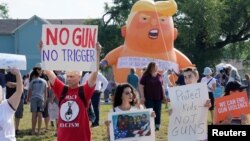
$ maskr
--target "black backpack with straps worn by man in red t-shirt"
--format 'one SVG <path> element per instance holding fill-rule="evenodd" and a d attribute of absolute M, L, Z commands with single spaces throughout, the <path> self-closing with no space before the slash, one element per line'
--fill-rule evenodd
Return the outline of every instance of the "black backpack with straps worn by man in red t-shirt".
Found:
<path fill-rule="evenodd" d="M 62 95 L 61 95 L 61 97 L 59 99 L 59 105 L 61 105 L 61 102 L 65 98 L 65 96 L 67 95 L 67 92 L 68 92 L 68 86 L 64 85 Z M 87 107 L 86 110 L 87 110 L 87 113 L 88 113 L 89 121 L 94 122 L 95 119 L 96 119 L 94 108 L 93 108 L 93 105 L 92 105 L 91 101 L 90 101 L 89 105 L 87 106 L 87 101 L 85 99 L 85 94 L 84 94 L 84 91 L 83 91 L 83 86 L 80 86 L 78 88 L 78 96 L 82 100 L 82 102 L 85 105 L 85 107 Z"/>

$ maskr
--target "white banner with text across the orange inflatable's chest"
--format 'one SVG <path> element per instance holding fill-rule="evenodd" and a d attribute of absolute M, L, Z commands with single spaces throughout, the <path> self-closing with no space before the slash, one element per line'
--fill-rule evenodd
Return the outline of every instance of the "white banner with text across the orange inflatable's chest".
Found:
<path fill-rule="evenodd" d="M 146 58 L 146 57 L 119 57 L 117 68 L 144 68 L 150 62 L 155 62 L 159 68 L 159 70 L 172 70 L 175 72 L 179 72 L 178 64 L 175 62 L 154 59 L 154 58 Z"/>

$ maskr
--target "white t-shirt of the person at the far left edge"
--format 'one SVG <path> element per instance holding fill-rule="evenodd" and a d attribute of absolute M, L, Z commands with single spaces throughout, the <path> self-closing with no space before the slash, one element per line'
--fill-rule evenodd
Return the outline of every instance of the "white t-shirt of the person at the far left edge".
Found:
<path fill-rule="evenodd" d="M 0 104 L 0 141 L 16 141 L 14 114 L 7 100 Z"/>

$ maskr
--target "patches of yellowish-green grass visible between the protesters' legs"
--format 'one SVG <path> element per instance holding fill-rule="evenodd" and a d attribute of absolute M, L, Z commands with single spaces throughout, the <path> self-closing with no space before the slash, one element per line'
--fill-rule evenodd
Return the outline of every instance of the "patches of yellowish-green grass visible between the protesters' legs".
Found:
<path fill-rule="evenodd" d="M 97 128 L 92 128 L 92 141 L 106 141 L 107 132 L 106 127 L 103 124 L 108 118 L 108 112 L 111 109 L 110 104 L 101 105 L 100 114 L 100 126 Z M 167 126 L 168 126 L 168 114 L 165 109 L 165 105 L 162 106 L 162 124 L 160 131 L 156 132 L 156 141 L 166 141 L 167 140 Z M 49 131 L 45 131 L 44 122 L 42 124 L 42 135 L 35 136 L 29 135 L 31 131 L 31 113 L 29 112 L 29 105 L 24 106 L 24 117 L 20 121 L 20 131 L 21 134 L 17 136 L 17 141 L 55 141 L 56 137 L 55 128 L 50 126 Z"/>

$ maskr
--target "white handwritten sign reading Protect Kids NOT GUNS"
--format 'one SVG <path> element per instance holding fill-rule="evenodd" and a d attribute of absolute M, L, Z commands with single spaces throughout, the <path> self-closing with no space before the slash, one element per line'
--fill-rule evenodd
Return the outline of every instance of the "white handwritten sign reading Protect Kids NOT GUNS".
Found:
<path fill-rule="evenodd" d="M 168 141 L 207 139 L 209 99 L 206 83 L 190 84 L 169 89 L 172 113 L 169 119 Z"/>

